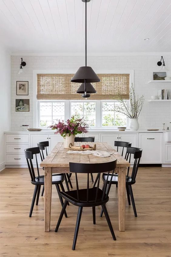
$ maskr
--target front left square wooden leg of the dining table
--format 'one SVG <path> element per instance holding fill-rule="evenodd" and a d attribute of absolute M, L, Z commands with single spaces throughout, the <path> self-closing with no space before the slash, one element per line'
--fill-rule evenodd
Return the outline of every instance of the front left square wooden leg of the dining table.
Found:
<path fill-rule="evenodd" d="M 52 197 L 52 168 L 45 167 L 45 207 L 44 207 L 44 231 L 50 231 L 50 212 Z"/>

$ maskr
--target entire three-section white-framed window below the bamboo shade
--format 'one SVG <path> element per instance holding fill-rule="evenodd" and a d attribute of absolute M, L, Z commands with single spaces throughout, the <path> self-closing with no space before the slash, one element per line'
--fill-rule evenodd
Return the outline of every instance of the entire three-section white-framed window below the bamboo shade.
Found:
<path fill-rule="evenodd" d="M 59 119 L 66 121 L 72 115 L 84 117 L 90 128 L 126 126 L 126 115 L 114 111 L 118 104 L 116 100 L 38 100 L 38 127 L 47 128 Z"/>

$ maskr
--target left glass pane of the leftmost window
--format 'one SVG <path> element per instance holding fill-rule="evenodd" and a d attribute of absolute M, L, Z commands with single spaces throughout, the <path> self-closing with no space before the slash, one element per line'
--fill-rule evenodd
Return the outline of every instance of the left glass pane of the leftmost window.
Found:
<path fill-rule="evenodd" d="M 52 103 L 40 102 L 40 127 L 52 125 Z"/>

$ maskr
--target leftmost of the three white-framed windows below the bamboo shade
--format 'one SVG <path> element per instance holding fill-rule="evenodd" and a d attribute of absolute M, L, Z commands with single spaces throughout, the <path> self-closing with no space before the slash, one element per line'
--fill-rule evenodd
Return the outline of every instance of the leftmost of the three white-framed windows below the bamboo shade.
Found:
<path fill-rule="evenodd" d="M 39 101 L 39 127 L 47 128 L 59 119 L 65 120 L 64 101 Z"/>

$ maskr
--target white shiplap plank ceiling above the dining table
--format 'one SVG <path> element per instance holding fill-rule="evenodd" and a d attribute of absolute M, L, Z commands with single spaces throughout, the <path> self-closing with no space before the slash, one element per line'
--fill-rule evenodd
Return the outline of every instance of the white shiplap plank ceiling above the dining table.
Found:
<path fill-rule="evenodd" d="M 0 41 L 12 52 L 82 53 L 84 12 L 81 0 L 0 0 Z M 88 53 L 170 52 L 171 0 L 91 0 L 87 35 Z"/>

